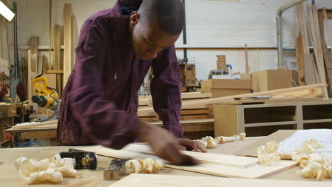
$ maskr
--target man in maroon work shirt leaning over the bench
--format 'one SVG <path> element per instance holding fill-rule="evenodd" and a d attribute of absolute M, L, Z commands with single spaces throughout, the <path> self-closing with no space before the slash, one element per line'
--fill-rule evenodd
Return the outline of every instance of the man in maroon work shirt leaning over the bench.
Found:
<path fill-rule="evenodd" d="M 139 10 L 131 12 L 135 7 Z M 139 140 L 174 164 L 193 162 L 178 151 L 181 147 L 205 152 L 183 138 L 179 125 L 181 81 L 174 43 L 183 25 L 180 0 L 118 0 L 114 8 L 88 18 L 63 92 L 59 144 L 121 149 Z M 137 91 L 150 66 L 153 107 L 167 130 L 137 117 Z"/>

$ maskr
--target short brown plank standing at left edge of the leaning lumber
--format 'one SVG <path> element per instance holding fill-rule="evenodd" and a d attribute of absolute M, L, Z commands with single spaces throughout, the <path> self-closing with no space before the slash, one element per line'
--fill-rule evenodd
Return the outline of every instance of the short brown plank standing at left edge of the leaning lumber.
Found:
<path fill-rule="evenodd" d="M 297 53 L 297 73 L 299 76 L 299 86 L 306 85 L 304 78 L 304 54 L 301 33 L 295 39 L 295 49 Z"/>

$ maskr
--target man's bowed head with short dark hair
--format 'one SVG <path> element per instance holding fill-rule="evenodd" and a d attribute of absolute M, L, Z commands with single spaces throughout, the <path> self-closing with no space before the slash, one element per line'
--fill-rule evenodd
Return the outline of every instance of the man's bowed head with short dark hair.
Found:
<path fill-rule="evenodd" d="M 131 13 L 131 39 L 137 57 L 154 59 L 172 46 L 184 26 L 180 0 L 143 0 L 138 12 Z"/>

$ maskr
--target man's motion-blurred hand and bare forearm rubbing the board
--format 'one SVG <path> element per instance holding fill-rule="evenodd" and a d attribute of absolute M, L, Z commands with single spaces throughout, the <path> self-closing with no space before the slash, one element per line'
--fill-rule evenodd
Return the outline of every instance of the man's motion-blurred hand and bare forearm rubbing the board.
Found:
<path fill-rule="evenodd" d="M 192 157 L 179 152 L 180 145 L 170 132 L 155 125 L 140 120 L 140 130 L 138 138 L 142 142 L 148 142 L 155 154 L 162 159 L 166 159 L 176 165 L 198 164 Z"/>

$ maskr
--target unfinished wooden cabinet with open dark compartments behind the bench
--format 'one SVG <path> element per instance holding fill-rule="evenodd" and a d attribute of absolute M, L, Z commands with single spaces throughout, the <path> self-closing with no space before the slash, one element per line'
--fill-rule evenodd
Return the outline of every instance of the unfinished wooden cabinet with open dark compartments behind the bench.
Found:
<path fill-rule="evenodd" d="M 214 105 L 215 136 L 269 135 L 277 130 L 332 128 L 332 99 Z"/>

